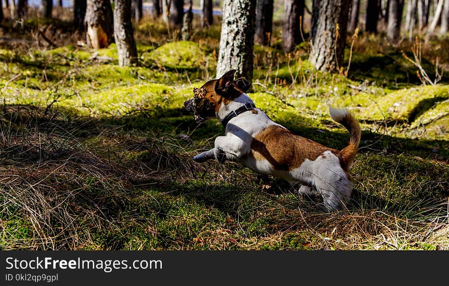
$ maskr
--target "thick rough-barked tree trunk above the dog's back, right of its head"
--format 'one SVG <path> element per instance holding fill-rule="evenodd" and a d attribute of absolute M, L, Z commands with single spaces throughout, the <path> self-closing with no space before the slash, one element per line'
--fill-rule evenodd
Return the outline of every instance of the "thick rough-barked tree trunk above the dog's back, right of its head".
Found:
<path fill-rule="evenodd" d="M 313 2 L 309 61 L 317 70 L 334 71 L 343 63 L 348 6 L 349 0 Z"/>

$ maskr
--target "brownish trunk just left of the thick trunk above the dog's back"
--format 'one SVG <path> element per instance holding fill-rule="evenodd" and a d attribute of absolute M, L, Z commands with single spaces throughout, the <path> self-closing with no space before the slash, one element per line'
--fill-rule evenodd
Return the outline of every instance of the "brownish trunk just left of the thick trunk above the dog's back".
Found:
<path fill-rule="evenodd" d="M 347 0 L 345 0 L 347 1 Z M 302 19 L 304 18 L 304 0 L 284 1 L 284 29 L 282 31 L 282 49 L 289 52 L 301 43 Z"/>

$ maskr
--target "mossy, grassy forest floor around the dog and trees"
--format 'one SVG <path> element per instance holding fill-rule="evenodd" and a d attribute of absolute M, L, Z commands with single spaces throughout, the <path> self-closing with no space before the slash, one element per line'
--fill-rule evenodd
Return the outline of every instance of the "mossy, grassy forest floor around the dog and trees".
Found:
<path fill-rule="evenodd" d="M 219 26 L 173 42 L 144 22 L 139 67 L 69 22 L 0 28 L 0 249 L 449 249 L 449 38 L 418 41 L 436 85 L 402 54 L 413 41 L 360 35 L 346 76 L 315 71 L 306 43 L 282 53 L 279 28 L 255 47 L 248 94 L 272 119 L 337 149 L 328 106 L 360 119 L 352 201 L 325 213 L 283 180 L 192 160 L 223 133 L 182 104 L 215 76 Z"/>

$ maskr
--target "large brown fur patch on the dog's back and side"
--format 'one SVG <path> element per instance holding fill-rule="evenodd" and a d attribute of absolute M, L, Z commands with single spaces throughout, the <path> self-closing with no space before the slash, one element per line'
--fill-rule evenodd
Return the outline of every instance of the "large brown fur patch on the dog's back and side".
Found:
<path fill-rule="evenodd" d="M 277 170 L 293 170 L 306 159 L 314 161 L 325 151 L 331 151 L 342 162 L 340 151 L 294 135 L 277 125 L 268 126 L 258 133 L 253 138 L 251 148 L 256 160 L 265 159 Z"/>

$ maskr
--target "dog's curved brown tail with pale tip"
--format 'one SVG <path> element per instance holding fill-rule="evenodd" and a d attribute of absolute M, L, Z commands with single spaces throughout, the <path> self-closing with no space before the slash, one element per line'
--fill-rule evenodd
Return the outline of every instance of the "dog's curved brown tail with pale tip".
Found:
<path fill-rule="evenodd" d="M 360 143 L 360 125 L 357 118 L 347 109 L 329 108 L 332 119 L 337 121 L 346 127 L 349 131 L 350 138 L 349 144 L 341 150 L 342 160 L 346 164 L 347 168 L 351 166 L 354 158 L 356 157 L 358 146 Z"/>

